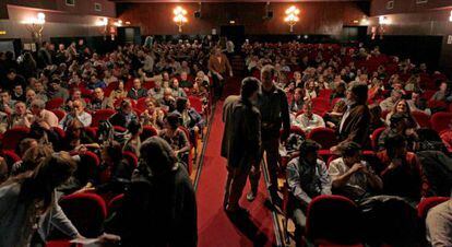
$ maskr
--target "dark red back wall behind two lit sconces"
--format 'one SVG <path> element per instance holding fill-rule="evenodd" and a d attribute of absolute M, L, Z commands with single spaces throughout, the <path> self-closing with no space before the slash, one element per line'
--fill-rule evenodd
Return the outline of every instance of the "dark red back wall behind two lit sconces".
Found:
<path fill-rule="evenodd" d="M 219 31 L 230 20 L 236 25 L 245 25 L 247 34 L 287 34 L 289 27 L 284 23 L 284 12 L 290 5 L 300 9 L 300 21 L 294 27 L 300 34 L 340 34 L 343 25 L 360 20 L 364 12 L 355 2 L 298 2 L 272 3 L 273 19 L 263 20 L 265 3 L 203 3 L 202 19 L 195 19 L 198 3 L 121 3 L 117 5 L 118 16 L 141 26 L 144 35 L 177 34 L 173 22 L 173 9 L 177 5 L 188 11 L 189 22 L 183 34 L 210 34 L 212 28 Z"/>

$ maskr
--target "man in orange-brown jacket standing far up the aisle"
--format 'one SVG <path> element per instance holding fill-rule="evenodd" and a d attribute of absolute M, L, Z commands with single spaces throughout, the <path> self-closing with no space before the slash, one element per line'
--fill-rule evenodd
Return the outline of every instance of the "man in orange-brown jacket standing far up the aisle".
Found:
<path fill-rule="evenodd" d="M 219 47 L 214 48 L 209 58 L 209 71 L 212 74 L 215 101 L 219 99 L 223 94 L 223 86 L 226 75 L 233 77 L 233 68 L 226 55 L 222 54 Z"/>

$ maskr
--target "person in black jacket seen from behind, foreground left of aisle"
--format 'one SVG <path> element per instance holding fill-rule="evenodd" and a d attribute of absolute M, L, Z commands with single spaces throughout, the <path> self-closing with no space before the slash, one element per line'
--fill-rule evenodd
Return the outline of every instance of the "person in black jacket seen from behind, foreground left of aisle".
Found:
<path fill-rule="evenodd" d="M 107 230 L 120 235 L 123 246 L 197 246 L 197 200 L 183 165 L 158 137 L 144 141 L 140 154 L 122 208 Z"/>

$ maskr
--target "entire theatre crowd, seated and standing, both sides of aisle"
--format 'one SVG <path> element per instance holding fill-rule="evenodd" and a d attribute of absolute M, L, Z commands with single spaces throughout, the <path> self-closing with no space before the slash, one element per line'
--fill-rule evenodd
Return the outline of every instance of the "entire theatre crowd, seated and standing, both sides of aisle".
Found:
<path fill-rule="evenodd" d="M 230 43 L 223 48 L 234 52 Z M 55 232 L 48 227 L 83 239 L 58 201 L 88 192 L 124 195 L 105 224 L 115 235 L 99 242 L 195 246 L 190 164 L 210 106 L 234 77 L 223 48 L 207 37 L 98 55 L 81 39 L 57 49 L 45 42 L 36 55 L 19 58 L 1 52 L 0 232 L 12 234 L 2 234 L 0 246 L 46 242 Z M 320 195 L 413 209 L 427 197 L 450 197 L 452 128 L 439 133 L 416 118 L 449 110 L 452 93 L 442 73 L 361 44 L 247 42 L 241 54 L 251 77 L 223 107 L 226 212 L 245 211 L 239 199 L 247 178 L 247 200 L 255 199 L 263 168 L 271 201 L 288 202 L 298 244 Z M 319 130 L 334 133 L 331 146 L 309 138 Z M 15 131 L 19 140 L 11 139 Z M 281 197 L 284 189 L 288 198 Z M 452 243 L 450 202 L 428 217 L 433 246 Z"/>

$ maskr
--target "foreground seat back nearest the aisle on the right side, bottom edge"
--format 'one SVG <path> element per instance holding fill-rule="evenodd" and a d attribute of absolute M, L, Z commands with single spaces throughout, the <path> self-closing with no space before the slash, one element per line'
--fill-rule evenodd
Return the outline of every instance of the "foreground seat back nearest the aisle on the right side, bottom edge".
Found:
<path fill-rule="evenodd" d="M 360 243 L 358 207 L 342 196 L 319 196 L 308 205 L 307 237 L 316 243 L 353 245 Z"/>

